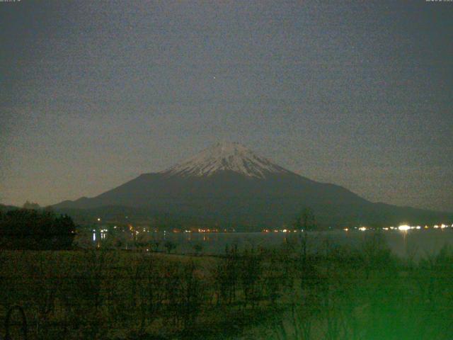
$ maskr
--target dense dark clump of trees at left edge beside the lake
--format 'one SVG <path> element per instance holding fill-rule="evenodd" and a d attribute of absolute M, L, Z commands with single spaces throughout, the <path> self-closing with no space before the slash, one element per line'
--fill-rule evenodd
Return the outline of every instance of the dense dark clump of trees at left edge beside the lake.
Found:
<path fill-rule="evenodd" d="M 49 210 L 0 211 L 0 246 L 3 249 L 69 249 L 76 225 L 68 215 Z"/>

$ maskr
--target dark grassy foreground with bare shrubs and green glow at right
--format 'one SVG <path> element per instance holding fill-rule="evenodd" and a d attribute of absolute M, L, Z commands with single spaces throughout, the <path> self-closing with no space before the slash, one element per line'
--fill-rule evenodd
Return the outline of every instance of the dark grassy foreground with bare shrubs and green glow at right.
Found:
<path fill-rule="evenodd" d="M 0 251 L 0 334 L 28 339 L 453 339 L 453 252 L 310 240 L 224 256 Z M 8 329 L 6 329 L 8 328 Z"/>

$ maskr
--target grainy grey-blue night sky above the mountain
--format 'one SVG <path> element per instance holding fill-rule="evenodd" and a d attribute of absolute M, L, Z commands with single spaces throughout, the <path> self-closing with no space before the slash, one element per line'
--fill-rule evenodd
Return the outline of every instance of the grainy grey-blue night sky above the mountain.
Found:
<path fill-rule="evenodd" d="M 227 140 L 453 211 L 453 2 L 337 2 L 0 2 L 0 202 L 96 196 Z"/>

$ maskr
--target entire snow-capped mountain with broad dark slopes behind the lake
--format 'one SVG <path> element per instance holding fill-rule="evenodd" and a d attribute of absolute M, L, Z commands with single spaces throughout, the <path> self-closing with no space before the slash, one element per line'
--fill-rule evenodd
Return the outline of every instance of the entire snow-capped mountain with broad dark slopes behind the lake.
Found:
<path fill-rule="evenodd" d="M 137 210 L 259 230 L 290 225 L 304 208 L 321 226 L 438 223 L 450 214 L 372 203 L 347 189 L 319 183 L 259 157 L 239 143 L 217 143 L 169 169 L 142 174 L 93 198 L 54 206 L 74 211 Z"/>

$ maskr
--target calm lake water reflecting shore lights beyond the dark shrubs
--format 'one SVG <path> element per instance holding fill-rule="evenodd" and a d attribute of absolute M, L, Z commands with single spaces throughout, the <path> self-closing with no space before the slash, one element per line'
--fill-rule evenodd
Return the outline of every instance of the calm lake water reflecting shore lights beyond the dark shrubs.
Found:
<path fill-rule="evenodd" d="M 308 232 L 308 242 L 312 248 L 323 244 L 351 245 L 360 248 L 365 239 L 372 237 L 373 231 L 358 232 L 343 230 L 329 232 Z M 98 235 L 96 235 L 98 234 Z M 142 234 L 142 233 L 141 233 Z M 409 230 L 384 231 L 384 239 L 391 251 L 398 256 L 426 256 L 435 254 L 445 244 L 453 245 L 453 229 L 429 229 L 429 230 Z M 93 244 L 96 243 L 98 236 L 102 241 L 111 239 L 110 233 L 93 232 Z M 263 232 L 243 232 L 243 233 L 192 233 L 192 232 L 146 232 L 144 233 L 148 242 L 165 242 L 170 240 L 178 244 L 176 249 L 179 253 L 193 253 L 195 244 L 202 244 L 202 252 L 205 254 L 222 254 L 226 246 L 237 245 L 239 249 L 250 247 L 275 247 L 281 244 L 295 241 L 301 234 L 287 233 L 263 233 Z M 144 237 L 144 235 L 141 235 Z M 114 237 L 118 237 L 117 235 Z M 130 234 L 122 235 L 122 239 L 132 240 Z M 127 247 L 127 242 L 125 246 Z"/>

